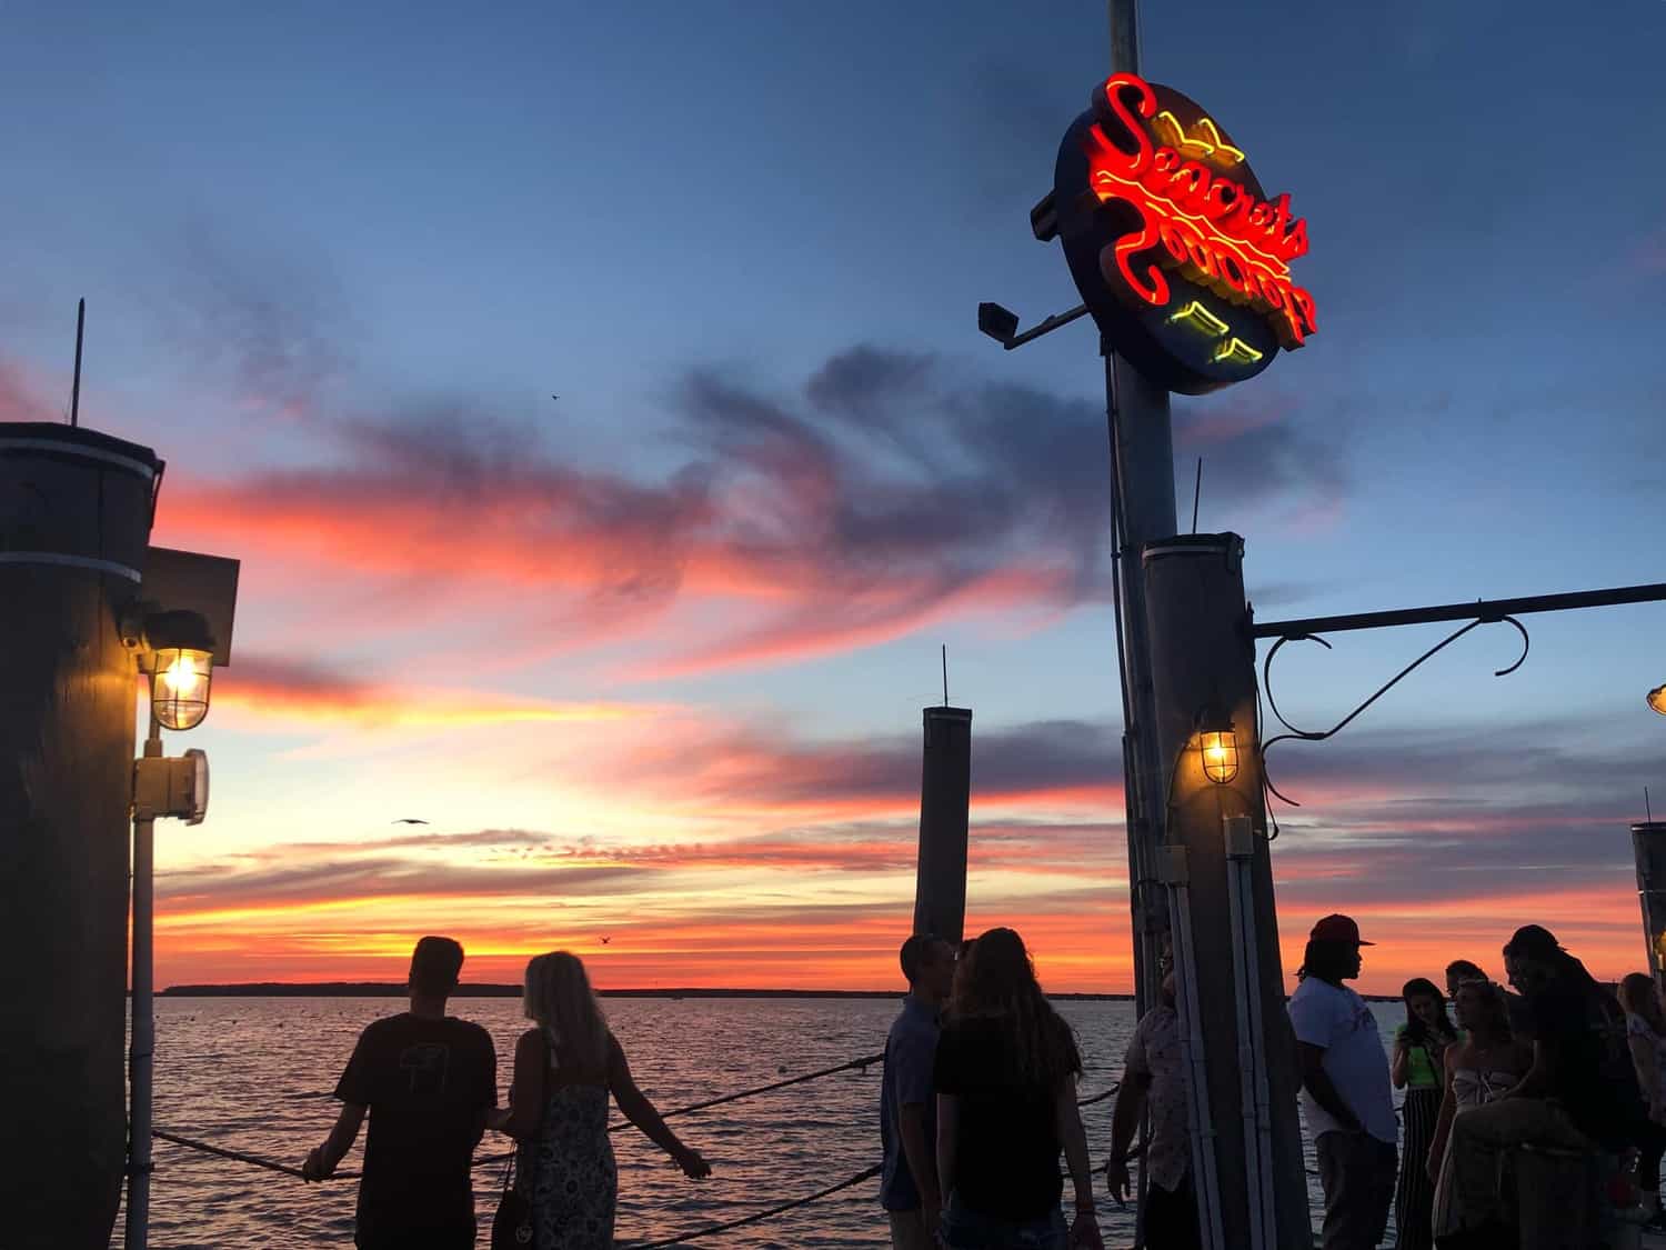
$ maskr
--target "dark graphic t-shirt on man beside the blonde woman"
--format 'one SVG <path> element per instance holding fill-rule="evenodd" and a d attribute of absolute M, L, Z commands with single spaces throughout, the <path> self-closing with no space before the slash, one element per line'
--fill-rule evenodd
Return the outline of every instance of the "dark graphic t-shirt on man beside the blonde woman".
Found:
<path fill-rule="evenodd" d="M 491 1035 L 456 1017 L 395 1015 L 358 1037 L 335 1097 L 370 1108 L 357 1242 L 407 1232 L 473 1235 L 470 1163 L 498 1102 Z"/>

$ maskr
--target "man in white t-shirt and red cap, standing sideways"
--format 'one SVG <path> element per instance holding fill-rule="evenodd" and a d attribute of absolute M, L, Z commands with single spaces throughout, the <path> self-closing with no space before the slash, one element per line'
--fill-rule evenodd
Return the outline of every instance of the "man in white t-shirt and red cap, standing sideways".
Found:
<path fill-rule="evenodd" d="M 1308 935 L 1289 1023 L 1301 1053 L 1301 1107 L 1324 1187 L 1324 1250 L 1371 1250 L 1394 1200 L 1394 1095 L 1376 1017 L 1343 985 L 1369 947 L 1351 917 L 1328 915 Z"/>

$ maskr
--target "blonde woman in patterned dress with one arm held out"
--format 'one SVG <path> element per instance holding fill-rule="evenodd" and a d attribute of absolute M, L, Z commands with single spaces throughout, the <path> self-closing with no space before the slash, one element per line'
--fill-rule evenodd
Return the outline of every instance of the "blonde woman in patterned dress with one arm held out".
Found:
<path fill-rule="evenodd" d="M 515 1043 L 510 1105 L 488 1123 L 520 1143 L 516 1183 L 531 1203 L 533 1250 L 610 1250 L 618 1172 L 608 1093 L 685 1175 L 706 1177 L 711 1167 L 636 1088 L 576 955 L 533 957 L 523 1002 L 535 1023 Z"/>

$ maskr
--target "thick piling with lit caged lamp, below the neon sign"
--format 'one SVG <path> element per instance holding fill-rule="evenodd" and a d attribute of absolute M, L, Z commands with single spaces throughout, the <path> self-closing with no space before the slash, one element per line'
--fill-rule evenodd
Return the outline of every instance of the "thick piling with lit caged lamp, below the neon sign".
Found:
<path fill-rule="evenodd" d="M 1254 642 L 1243 538 L 1200 533 L 1141 550 L 1163 762 L 1165 858 L 1181 1017 L 1201 1050 L 1195 1090 L 1201 1178 L 1213 1180 L 1213 1245 L 1306 1247 L 1306 1173 L 1296 1120 L 1294 1042 L 1273 907 Z M 1205 733 L 1230 725 L 1235 753 L 1205 757 Z M 1231 775 L 1223 763 L 1231 763 Z M 1211 763 L 1211 780 L 1205 765 Z M 1195 1132 L 1195 1137 L 1198 1133 Z M 1203 1197 L 1203 1195 L 1200 1195 Z M 1205 1212 L 1208 1217 L 1208 1212 Z M 1208 1227 L 1208 1223 L 1205 1225 Z M 1206 1245 L 1211 1243 L 1206 1240 Z"/>

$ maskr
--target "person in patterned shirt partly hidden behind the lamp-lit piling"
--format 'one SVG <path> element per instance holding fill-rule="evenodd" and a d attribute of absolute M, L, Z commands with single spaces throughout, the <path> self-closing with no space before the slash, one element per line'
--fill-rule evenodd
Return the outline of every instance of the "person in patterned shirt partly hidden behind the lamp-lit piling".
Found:
<path fill-rule="evenodd" d="M 1153 1250 L 1196 1250 L 1198 1198 L 1191 1180 L 1191 1123 L 1186 1113 L 1191 1082 L 1180 1057 L 1180 1013 L 1175 1010 L 1175 955 L 1166 947 L 1158 957 L 1163 973 L 1163 1002 L 1140 1017 L 1123 1058 L 1123 1083 L 1111 1112 L 1111 1157 L 1105 1182 L 1111 1197 L 1125 1203 L 1133 1190 L 1128 1148 L 1140 1118 L 1151 1112 L 1146 1138 L 1146 1193 L 1141 1210 L 1145 1243 Z"/>

